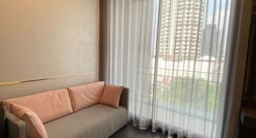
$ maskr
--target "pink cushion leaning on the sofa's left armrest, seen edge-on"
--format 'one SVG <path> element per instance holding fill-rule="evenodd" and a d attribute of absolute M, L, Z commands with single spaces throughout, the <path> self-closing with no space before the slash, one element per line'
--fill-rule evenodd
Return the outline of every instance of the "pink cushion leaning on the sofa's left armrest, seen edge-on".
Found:
<path fill-rule="evenodd" d="M 28 137 L 47 138 L 44 125 L 35 112 L 17 104 L 10 105 L 10 112 L 26 122 Z"/>

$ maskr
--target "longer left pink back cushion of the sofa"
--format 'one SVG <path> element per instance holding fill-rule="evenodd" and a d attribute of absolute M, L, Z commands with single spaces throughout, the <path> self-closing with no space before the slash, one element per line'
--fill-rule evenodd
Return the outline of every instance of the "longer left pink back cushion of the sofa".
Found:
<path fill-rule="evenodd" d="M 10 110 L 10 104 L 22 105 L 30 109 L 37 114 L 43 123 L 73 112 L 67 89 L 4 100 L 4 107 L 7 111 Z"/>

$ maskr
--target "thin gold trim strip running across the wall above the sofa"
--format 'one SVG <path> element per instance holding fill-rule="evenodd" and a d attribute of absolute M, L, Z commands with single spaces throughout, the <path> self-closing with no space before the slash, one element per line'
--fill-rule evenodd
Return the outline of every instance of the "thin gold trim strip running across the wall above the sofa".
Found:
<path fill-rule="evenodd" d="M 10 84 L 18 84 L 18 83 L 22 83 L 22 82 L 42 81 L 42 80 L 47 80 L 47 79 L 61 79 L 61 78 L 65 78 L 65 77 L 76 77 L 76 76 L 80 76 L 80 75 L 92 75 L 92 74 L 97 74 L 97 73 L 96 72 L 80 73 L 80 74 L 76 74 L 76 75 L 65 75 L 65 76 L 61 76 L 61 77 L 47 77 L 47 78 L 31 79 L 31 80 L 24 80 L 24 81 L 0 82 L 0 86 L 10 85 Z"/>

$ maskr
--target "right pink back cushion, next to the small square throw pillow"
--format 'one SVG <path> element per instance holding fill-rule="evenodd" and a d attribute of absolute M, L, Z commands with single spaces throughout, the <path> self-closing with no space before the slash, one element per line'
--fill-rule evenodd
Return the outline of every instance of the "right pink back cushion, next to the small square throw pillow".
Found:
<path fill-rule="evenodd" d="M 104 82 L 68 88 L 74 112 L 99 103 L 104 89 Z"/>

